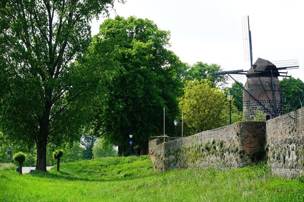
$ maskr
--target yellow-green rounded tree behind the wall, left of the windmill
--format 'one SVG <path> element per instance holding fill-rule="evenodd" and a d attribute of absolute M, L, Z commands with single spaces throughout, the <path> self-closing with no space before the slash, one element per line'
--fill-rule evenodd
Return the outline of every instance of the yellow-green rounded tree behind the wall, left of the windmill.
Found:
<path fill-rule="evenodd" d="M 184 123 L 192 134 L 223 126 L 227 122 L 226 95 L 213 85 L 206 79 L 186 82 L 180 109 L 184 111 Z"/>

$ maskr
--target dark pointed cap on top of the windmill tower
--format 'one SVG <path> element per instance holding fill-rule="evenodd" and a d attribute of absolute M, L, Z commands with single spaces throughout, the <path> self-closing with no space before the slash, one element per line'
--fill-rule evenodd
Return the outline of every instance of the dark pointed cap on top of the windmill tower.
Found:
<path fill-rule="evenodd" d="M 269 77 L 271 75 L 271 70 L 273 77 L 278 77 L 280 75 L 278 69 L 273 63 L 269 62 L 268 60 L 258 58 L 254 62 L 252 68 L 250 68 L 246 73 L 246 77 L 253 77 L 253 76 Z"/>

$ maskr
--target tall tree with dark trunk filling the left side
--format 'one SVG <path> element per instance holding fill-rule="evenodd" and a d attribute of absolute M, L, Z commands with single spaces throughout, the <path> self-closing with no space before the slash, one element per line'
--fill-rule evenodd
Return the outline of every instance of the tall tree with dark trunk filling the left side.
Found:
<path fill-rule="evenodd" d="M 0 4 L 0 124 L 8 137 L 36 144 L 79 140 L 100 79 L 72 65 L 91 42 L 89 22 L 114 0 L 4 0 Z"/>

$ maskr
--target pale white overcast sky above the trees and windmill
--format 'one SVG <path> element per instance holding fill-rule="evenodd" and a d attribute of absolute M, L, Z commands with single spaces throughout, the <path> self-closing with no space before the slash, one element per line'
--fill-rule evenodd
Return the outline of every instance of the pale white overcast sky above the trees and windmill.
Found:
<path fill-rule="evenodd" d="M 170 31 L 182 62 L 217 63 L 226 71 L 250 68 L 242 36 L 242 16 L 250 16 L 253 63 L 298 59 L 300 69 L 288 75 L 304 81 L 304 0 L 127 0 L 115 9 L 111 18 L 148 18 Z M 92 22 L 92 34 L 102 21 Z"/>

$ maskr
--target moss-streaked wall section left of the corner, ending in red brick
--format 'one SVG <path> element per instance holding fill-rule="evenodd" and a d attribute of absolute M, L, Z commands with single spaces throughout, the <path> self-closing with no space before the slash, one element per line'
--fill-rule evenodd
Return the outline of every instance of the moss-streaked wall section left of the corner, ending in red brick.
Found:
<path fill-rule="evenodd" d="M 251 162 L 249 156 L 265 146 L 266 122 L 239 122 L 203 131 L 183 139 L 151 137 L 149 155 L 154 170 L 169 168 L 238 168 Z"/>

